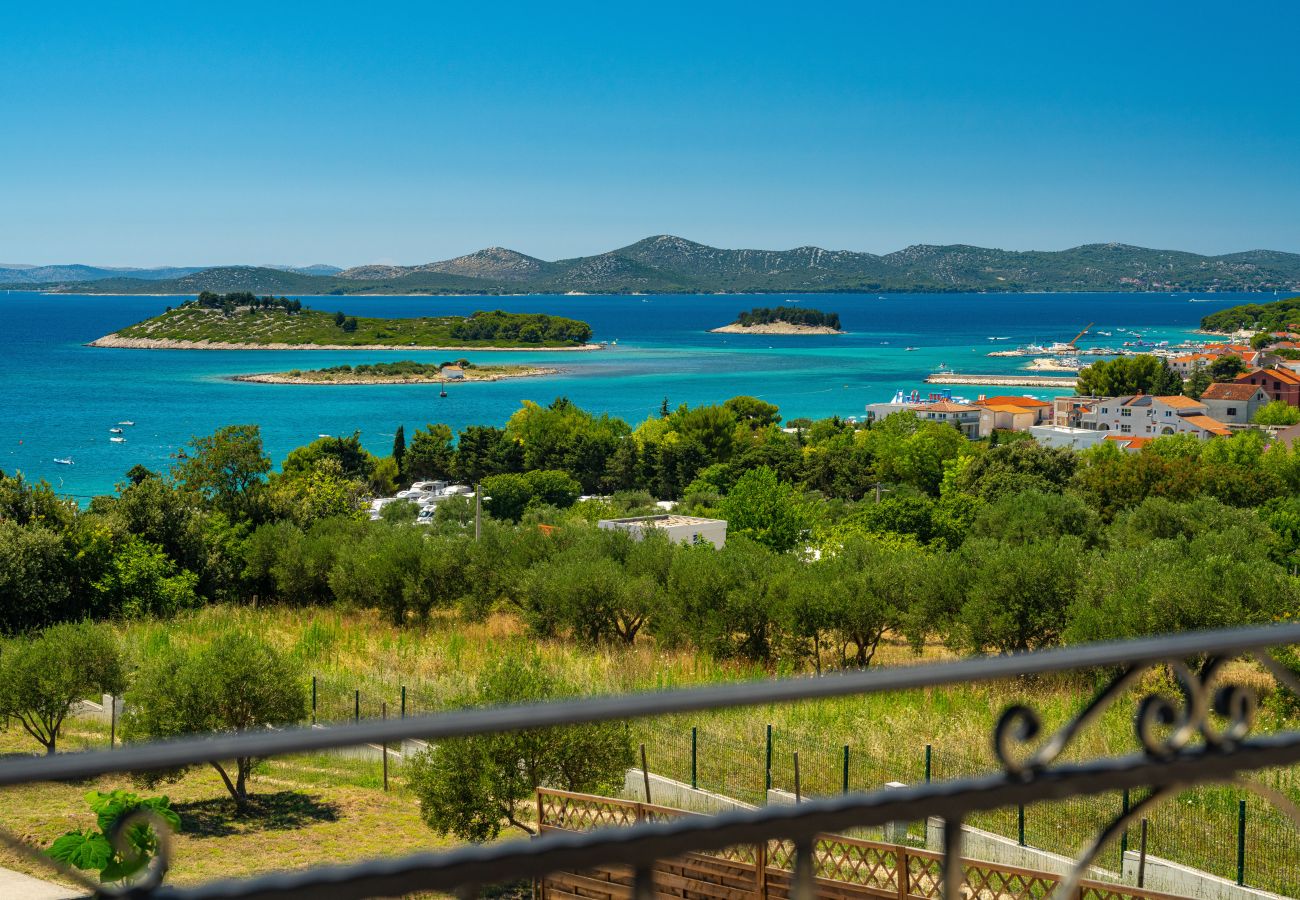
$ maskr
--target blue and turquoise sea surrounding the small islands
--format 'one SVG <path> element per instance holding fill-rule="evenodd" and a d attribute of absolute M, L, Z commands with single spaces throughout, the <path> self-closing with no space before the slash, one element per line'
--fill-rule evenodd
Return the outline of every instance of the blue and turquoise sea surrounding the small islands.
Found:
<path fill-rule="evenodd" d="M 991 358 L 994 349 L 1069 341 L 1084 325 L 1086 346 L 1134 339 L 1176 342 L 1201 316 L 1228 306 L 1273 299 L 1257 294 L 788 294 L 649 297 L 326 297 L 303 298 L 322 310 L 363 316 L 467 315 L 476 310 L 550 312 L 592 324 L 595 352 L 458 351 L 216 351 L 109 350 L 83 346 L 103 334 L 174 306 L 170 297 L 0 294 L 0 470 L 47 479 L 84 502 L 105 493 L 135 463 L 170 466 L 194 434 L 256 423 L 278 463 L 318 434 L 361 432 L 386 454 L 399 424 L 407 436 L 426 423 L 460 429 L 502 424 L 521 401 L 568 397 L 584 408 L 636 424 L 663 398 L 714 403 L 751 394 L 786 417 L 862 415 L 866 403 L 897 390 L 927 390 L 923 378 L 942 363 L 963 373 L 1009 375 L 1026 360 Z M 1192 302 L 1196 300 L 1196 302 Z M 844 336 L 768 337 L 710 334 L 754 306 L 802 304 L 838 312 Z M 1006 338 L 991 341 L 989 338 Z M 915 347 L 907 351 L 906 347 Z M 467 356 L 478 363 L 545 363 L 560 375 L 454 385 L 260 385 L 229 376 L 317 368 L 341 363 Z M 989 389 L 1009 393 L 1009 389 Z M 978 397 L 978 386 L 958 395 Z M 1011 389 L 1050 397 L 1048 389 Z M 126 443 L 110 443 L 120 420 Z M 60 466 L 56 457 L 70 457 Z"/>

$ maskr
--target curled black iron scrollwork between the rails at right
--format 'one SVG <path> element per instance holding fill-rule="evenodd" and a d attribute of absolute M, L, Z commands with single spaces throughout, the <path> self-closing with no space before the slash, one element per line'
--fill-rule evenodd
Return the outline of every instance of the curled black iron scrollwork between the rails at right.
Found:
<path fill-rule="evenodd" d="M 1269 671 L 1279 684 L 1288 688 L 1294 695 L 1300 696 L 1300 679 L 1296 679 L 1291 670 L 1264 650 L 1252 650 L 1249 655 Z M 1034 708 L 1014 704 L 1008 706 L 998 718 L 993 731 L 993 752 L 1009 778 L 1032 782 L 1070 747 L 1074 737 L 1084 727 L 1096 721 L 1145 671 L 1158 665 L 1167 666 L 1174 674 L 1182 697 L 1175 701 L 1161 692 L 1154 692 L 1145 695 L 1138 702 L 1134 715 L 1134 731 L 1138 741 L 1141 744 L 1143 752 L 1154 760 L 1171 760 L 1180 753 L 1193 750 L 1193 740 L 1197 736 L 1200 736 L 1204 744 L 1201 748 L 1195 748 L 1199 752 L 1230 752 L 1254 727 L 1258 696 L 1253 688 L 1243 684 L 1216 685 L 1216 679 L 1222 675 L 1223 666 L 1227 662 L 1228 657 L 1212 657 L 1205 662 L 1199 674 L 1193 672 L 1182 659 L 1167 659 L 1164 663 L 1147 663 L 1144 666 L 1127 666 L 1105 688 L 1097 692 L 1078 715 L 1053 732 L 1027 757 L 1018 757 L 1015 747 L 1017 744 L 1028 745 L 1037 740 L 1043 731 L 1043 721 Z M 1212 714 L 1225 719 L 1226 724 L 1222 728 L 1217 728 Z M 1284 793 L 1243 778 L 1230 779 L 1228 783 L 1264 797 L 1291 818 L 1296 826 L 1300 826 L 1300 806 Z M 1128 806 L 1121 815 L 1112 819 L 1088 849 L 1079 856 L 1069 877 L 1057 884 L 1052 896 L 1075 896 L 1079 883 L 1088 874 L 1089 867 L 1106 845 L 1117 840 L 1148 809 L 1176 796 L 1186 787 L 1188 786 L 1176 782 L 1161 784 L 1147 797 Z"/>

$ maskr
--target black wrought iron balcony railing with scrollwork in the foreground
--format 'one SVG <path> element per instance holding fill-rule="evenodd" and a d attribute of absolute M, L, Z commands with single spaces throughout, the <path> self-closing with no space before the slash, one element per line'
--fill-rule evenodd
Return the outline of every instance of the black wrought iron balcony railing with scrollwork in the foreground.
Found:
<path fill-rule="evenodd" d="M 634 827 L 550 832 L 529 841 L 465 845 L 439 853 L 369 860 L 347 865 L 172 886 L 165 882 L 169 851 L 162 841 L 148 871 L 126 888 L 150 900 L 303 899 L 402 896 L 421 891 L 471 896 L 482 886 L 540 879 L 555 871 L 593 866 L 629 866 L 633 897 L 654 896 L 654 866 L 689 852 L 788 841 L 793 847 L 792 896 L 815 893 L 816 836 L 889 822 L 944 821 L 939 883 L 945 900 L 962 884 L 962 822 L 980 812 L 1118 789 L 1147 788 L 1145 796 L 1101 830 L 1072 874 L 1054 887 L 1057 897 L 1078 896 L 1079 883 L 1097 852 L 1153 804 L 1190 787 L 1235 783 L 1258 793 L 1300 823 L 1300 809 L 1284 793 L 1251 779 L 1251 773 L 1300 762 L 1300 731 L 1257 735 L 1254 691 L 1226 678 L 1225 665 L 1253 659 L 1286 691 L 1300 696 L 1300 682 L 1269 653 L 1300 644 L 1300 624 L 1184 633 L 1134 641 L 1072 646 L 1022 655 L 965 659 L 924 666 L 880 668 L 824 678 L 750 682 L 555 704 L 472 709 L 438 715 L 361 722 L 330 728 L 289 728 L 240 735 L 196 736 L 129 745 L 117 750 L 65 753 L 0 761 L 0 788 L 31 782 L 86 779 L 113 773 L 165 770 L 234 757 L 273 757 L 359 744 L 396 744 L 403 739 L 438 741 L 520 728 L 623 721 L 637 717 L 749 706 L 824 697 L 874 695 L 920 687 L 993 682 L 1015 676 L 1101 668 L 1105 688 L 1050 735 L 1027 706 L 1005 710 L 992 743 L 1001 771 L 982 778 L 933 782 L 810 800 L 796 806 L 767 806 L 711 817 L 645 822 Z M 1152 667 L 1167 667 L 1179 697 L 1152 693 L 1135 709 L 1136 753 L 1062 761 L 1074 739 L 1108 708 L 1127 698 Z M 3 815 L 0 815 L 3 819 Z M 155 822 L 161 828 L 161 823 Z M 21 848 L 12 836 L 6 843 Z M 81 878 L 75 871 L 64 873 Z M 98 886 L 82 879 L 88 890 Z"/>

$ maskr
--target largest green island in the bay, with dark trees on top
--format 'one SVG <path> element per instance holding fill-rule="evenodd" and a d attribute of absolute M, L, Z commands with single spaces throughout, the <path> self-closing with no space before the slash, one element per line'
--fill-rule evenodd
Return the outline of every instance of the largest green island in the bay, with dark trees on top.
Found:
<path fill-rule="evenodd" d="M 92 347 L 164 350 L 595 350 L 592 326 L 524 312 L 367 319 L 324 312 L 287 297 L 212 294 L 120 332 Z"/>

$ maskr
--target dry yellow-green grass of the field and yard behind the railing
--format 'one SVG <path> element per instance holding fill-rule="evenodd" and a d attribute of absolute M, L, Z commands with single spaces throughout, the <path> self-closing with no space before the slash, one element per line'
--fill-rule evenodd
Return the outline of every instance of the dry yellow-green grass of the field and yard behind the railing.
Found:
<path fill-rule="evenodd" d="M 136 622 L 122 626 L 126 644 L 135 654 L 147 654 L 161 642 L 204 640 L 218 628 L 256 629 L 292 653 L 307 676 L 317 680 L 317 718 L 321 722 L 348 721 L 354 715 L 355 692 L 360 692 L 363 717 L 378 717 L 384 704 L 387 714 L 399 714 L 400 689 L 407 688 L 410 714 L 446 708 L 473 684 L 486 662 L 506 650 L 536 649 L 592 693 L 644 691 L 768 676 L 760 667 L 719 662 L 706 655 L 664 650 L 650 642 L 632 649 L 582 648 L 562 640 L 538 640 L 516 620 L 497 615 L 486 622 L 464 623 L 452 618 L 434 620 L 428 627 L 396 628 L 365 613 L 335 610 L 290 610 L 216 607 L 169 622 Z M 926 649 L 926 658 L 945 655 L 939 646 Z M 901 642 L 888 642 L 880 650 L 884 665 L 915 662 Z M 1270 682 L 1248 666 L 1238 665 L 1235 676 L 1249 682 L 1265 696 Z M 991 735 L 998 714 L 1011 702 L 1026 702 L 1040 711 L 1045 728 L 1054 728 L 1072 717 L 1088 700 L 1097 682 L 1089 676 L 1013 680 L 991 684 L 963 684 L 871 697 L 844 697 L 816 702 L 785 704 L 734 710 L 663 717 L 629 723 L 634 744 L 645 743 L 651 770 L 690 780 L 690 728 L 698 730 L 697 778 L 699 787 L 742 800 L 760 802 L 764 791 L 766 727 L 772 724 L 772 784 L 793 789 L 793 754 L 800 753 L 801 787 L 805 795 L 838 793 L 842 787 L 842 748 L 849 752 L 849 782 L 853 789 L 878 787 L 897 780 L 916 783 L 924 778 L 926 745 L 930 744 L 932 776 L 949 779 L 996 771 Z M 1132 713 L 1138 693 L 1169 688 L 1162 672 L 1152 672 L 1131 696 L 1112 706 L 1096 723 L 1079 735 L 1067 754 L 1084 760 L 1136 749 Z M 1266 704 L 1268 705 L 1268 704 Z M 1268 718 L 1266 715 L 1264 718 Z M 1260 730 L 1268 730 L 1265 722 Z M 82 731 L 82 724 L 75 724 Z M 104 741 L 100 732 L 86 732 L 65 740 Z M 96 736 L 98 735 L 98 736 Z M 4 736 L 4 749 L 35 748 L 14 732 Z M 354 823 L 367 823 L 377 834 L 359 835 L 346 848 L 347 858 L 368 853 L 403 852 L 438 843 L 419 822 L 415 800 L 400 789 L 384 795 L 378 784 L 377 762 L 321 756 L 268 763 L 259 775 L 256 789 L 300 791 L 313 804 L 337 804 L 339 814 Z M 192 779 L 192 780 L 191 780 Z M 400 771 L 394 769 L 394 784 Z M 1295 770 L 1265 773 L 1274 787 L 1300 799 Z M 109 782 L 103 782 L 112 787 Z M 62 823 L 77 813 L 78 788 L 68 796 L 26 788 L 0 801 L 0 823 L 5 827 L 34 828 L 43 839 L 58 832 L 61 825 L 38 826 L 43 804 L 53 802 L 52 822 Z M 186 802 L 220 800 L 214 776 L 196 773 L 186 779 L 174 797 Z M 1188 792 L 1157 806 L 1150 814 L 1149 849 L 1153 854 L 1205 869 L 1226 878 L 1236 874 L 1238 800 L 1245 795 L 1234 788 L 1204 788 Z M 1134 796 L 1134 800 L 1138 795 Z M 77 801 L 77 802 L 74 802 Z M 289 802 L 285 800 L 283 802 Z M 1040 804 L 1026 810 L 1028 844 L 1060 853 L 1076 853 L 1121 809 L 1118 792 L 1101 797 Z M 14 815 L 20 818 L 13 822 Z M 370 817 L 376 821 L 372 823 Z M 389 821 L 391 818 L 391 821 Z M 1280 813 L 1253 799 L 1247 806 L 1247 883 L 1266 890 L 1295 893 L 1300 888 L 1300 835 Z M 1017 835 L 1014 808 L 975 815 L 978 827 L 1002 835 Z M 235 871 L 252 867 L 307 865 L 330 861 L 342 852 L 330 841 L 332 822 L 308 822 L 287 835 L 274 828 L 250 826 L 229 836 L 203 838 L 203 853 L 220 860 L 229 854 Z M 312 847 L 320 831 L 322 847 Z M 919 840 L 922 830 L 914 826 Z M 334 836 L 330 836 L 334 835 Z M 283 838 L 283 840 L 281 840 Z M 328 838 L 328 840 L 326 840 Z M 187 839 L 188 840 L 188 839 Z M 200 840 L 195 838 L 194 840 Z M 338 844 L 342 847 L 342 844 Z M 1136 847 L 1134 838 L 1131 847 Z M 182 848 L 190 849 L 186 844 Z M 1118 847 L 1101 857 L 1101 864 L 1118 869 Z M 212 858 L 182 864 L 178 877 L 203 878 L 218 870 Z"/>

